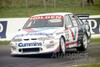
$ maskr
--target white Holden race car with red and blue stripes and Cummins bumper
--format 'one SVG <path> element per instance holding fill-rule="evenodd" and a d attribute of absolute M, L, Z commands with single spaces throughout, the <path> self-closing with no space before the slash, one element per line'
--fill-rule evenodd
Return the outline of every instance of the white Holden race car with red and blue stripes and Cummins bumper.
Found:
<path fill-rule="evenodd" d="M 90 28 L 73 13 L 45 13 L 30 17 L 11 40 L 11 55 L 51 52 L 65 54 L 66 49 L 85 51 Z"/>

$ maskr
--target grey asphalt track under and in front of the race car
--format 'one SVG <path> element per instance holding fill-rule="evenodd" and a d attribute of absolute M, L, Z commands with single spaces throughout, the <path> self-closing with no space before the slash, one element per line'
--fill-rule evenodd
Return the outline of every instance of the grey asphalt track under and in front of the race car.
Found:
<path fill-rule="evenodd" d="M 88 63 L 100 63 L 100 44 L 91 44 L 85 52 L 75 49 L 66 51 L 66 55 L 39 54 L 29 56 L 10 56 L 10 46 L 0 45 L 0 67 L 67 67 Z"/>

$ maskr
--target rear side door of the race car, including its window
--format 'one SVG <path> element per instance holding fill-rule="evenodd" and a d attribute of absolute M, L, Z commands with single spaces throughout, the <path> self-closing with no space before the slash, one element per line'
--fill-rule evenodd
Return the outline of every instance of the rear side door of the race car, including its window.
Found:
<path fill-rule="evenodd" d="M 77 42 L 78 42 L 79 27 L 78 27 L 78 23 L 77 23 L 75 16 L 73 14 L 69 14 L 69 17 L 70 17 L 70 20 L 73 24 L 73 27 L 70 28 L 70 32 L 71 32 L 70 34 L 72 37 L 72 41 L 70 43 L 70 46 L 74 47 L 77 45 Z"/>

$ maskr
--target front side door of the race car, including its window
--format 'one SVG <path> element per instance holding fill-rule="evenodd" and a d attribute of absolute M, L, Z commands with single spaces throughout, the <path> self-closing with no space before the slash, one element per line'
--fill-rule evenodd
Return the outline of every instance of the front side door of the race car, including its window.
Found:
<path fill-rule="evenodd" d="M 66 38 L 66 46 L 71 47 L 73 46 L 74 40 L 76 40 L 77 37 L 75 37 L 77 34 L 74 32 L 76 30 L 73 27 L 72 21 L 69 17 L 69 15 L 65 16 L 65 38 Z"/>

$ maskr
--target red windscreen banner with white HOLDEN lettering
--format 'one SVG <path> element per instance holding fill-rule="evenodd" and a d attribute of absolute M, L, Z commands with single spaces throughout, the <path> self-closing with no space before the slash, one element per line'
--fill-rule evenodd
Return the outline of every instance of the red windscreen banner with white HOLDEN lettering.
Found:
<path fill-rule="evenodd" d="M 29 18 L 28 21 L 40 20 L 40 19 L 63 19 L 63 16 L 61 15 L 36 16 Z"/>

